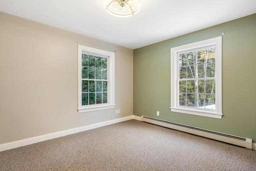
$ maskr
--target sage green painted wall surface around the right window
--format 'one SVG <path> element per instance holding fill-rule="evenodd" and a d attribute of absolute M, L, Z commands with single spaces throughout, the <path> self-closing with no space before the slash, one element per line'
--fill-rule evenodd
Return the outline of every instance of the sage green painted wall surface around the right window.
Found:
<path fill-rule="evenodd" d="M 222 119 L 171 112 L 170 46 L 222 32 Z M 256 14 L 138 48 L 133 60 L 134 115 L 248 137 L 256 143 Z"/>

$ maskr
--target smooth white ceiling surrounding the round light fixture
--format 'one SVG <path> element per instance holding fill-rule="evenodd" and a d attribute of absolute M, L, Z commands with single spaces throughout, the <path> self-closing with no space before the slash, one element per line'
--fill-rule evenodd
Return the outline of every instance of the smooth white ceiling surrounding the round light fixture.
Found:
<path fill-rule="evenodd" d="M 136 49 L 256 13 L 256 0 L 140 0 L 128 18 L 104 0 L 0 0 L 0 11 Z"/>

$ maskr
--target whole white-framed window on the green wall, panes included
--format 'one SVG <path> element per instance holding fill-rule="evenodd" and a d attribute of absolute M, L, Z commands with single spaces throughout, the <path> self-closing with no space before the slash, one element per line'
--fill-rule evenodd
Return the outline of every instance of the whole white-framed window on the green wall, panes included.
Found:
<path fill-rule="evenodd" d="M 171 111 L 222 117 L 222 37 L 171 48 Z"/>

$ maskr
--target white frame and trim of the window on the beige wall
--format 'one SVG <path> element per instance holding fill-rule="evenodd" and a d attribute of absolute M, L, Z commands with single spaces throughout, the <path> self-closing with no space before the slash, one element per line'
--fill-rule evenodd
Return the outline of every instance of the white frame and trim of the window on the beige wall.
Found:
<path fill-rule="evenodd" d="M 82 105 L 82 53 L 108 58 L 108 103 Z M 115 53 L 78 45 L 78 113 L 112 109 L 115 107 Z"/>

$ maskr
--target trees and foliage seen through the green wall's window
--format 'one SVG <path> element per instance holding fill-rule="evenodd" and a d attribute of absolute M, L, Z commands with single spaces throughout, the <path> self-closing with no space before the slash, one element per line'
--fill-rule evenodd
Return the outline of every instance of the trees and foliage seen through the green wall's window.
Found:
<path fill-rule="evenodd" d="M 179 105 L 214 107 L 215 58 L 214 47 L 179 54 Z"/>

